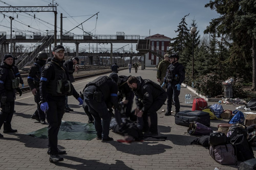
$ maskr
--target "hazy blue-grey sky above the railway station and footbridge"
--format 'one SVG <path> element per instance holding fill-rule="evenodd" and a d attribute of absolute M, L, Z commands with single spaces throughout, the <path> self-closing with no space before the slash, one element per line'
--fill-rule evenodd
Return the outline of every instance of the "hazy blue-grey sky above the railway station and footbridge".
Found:
<path fill-rule="evenodd" d="M 216 11 L 204 7 L 209 0 L 0 0 L 0 6 L 48 6 L 50 3 L 58 4 L 58 27 L 60 27 L 60 14 L 67 17 L 63 18 L 63 32 L 70 31 L 88 19 L 82 24 L 82 27 L 84 31 L 91 32 L 93 35 L 116 35 L 116 32 L 124 32 L 125 35 L 163 34 L 166 37 L 174 38 L 177 35 L 175 30 L 177 30 L 179 22 L 189 14 L 186 17 L 188 28 L 190 28 L 192 20 L 195 19 L 197 30 L 202 37 L 203 31 L 211 19 L 218 17 Z M 98 17 L 97 15 L 93 16 L 96 13 L 98 13 Z M 6 15 L 5 18 L 3 14 Z M 0 31 L 6 32 L 7 35 L 10 34 L 9 16 L 14 17 L 12 27 L 16 32 L 22 31 L 29 35 L 33 34 L 32 32 L 39 32 L 38 30 L 42 33 L 46 33 L 46 30 L 54 30 L 53 12 L 28 12 L 28 14 L 31 16 L 25 13 L 2 12 L 0 14 Z M 34 14 L 40 20 L 34 19 Z M 93 17 L 90 18 L 91 16 Z M 82 27 L 80 26 L 80 28 Z M 59 34 L 60 28 L 57 30 Z M 83 31 L 79 28 L 75 28 L 71 32 L 83 35 Z M 75 48 L 75 44 L 63 43 L 63 45 L 70 46 L 71 49 Z M 127 44 L 116 43 L 113 44 L 113 48 L 120 48 L 124 45 Z M 129 44 L 125 46 L 125 50 L 133 48 L 134 51 L 135 46 L 135 44 Z M 89 44 L 79 44 L 79 47 L 88 48 Z M 92 47 L 91 43 L 90 47 Z M 106 48 L 109 45 L 99 44 L 99 47 Z"/>

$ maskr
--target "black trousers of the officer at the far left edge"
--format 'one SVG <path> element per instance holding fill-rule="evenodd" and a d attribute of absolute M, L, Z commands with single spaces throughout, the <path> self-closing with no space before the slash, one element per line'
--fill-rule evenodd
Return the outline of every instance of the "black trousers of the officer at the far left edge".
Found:
<path fill-rule="evenodd" d="M 0 129 L 4 124 L 4 130 L 10 130 L 12 129 L 11 122 L 14 112 L 14 101 L 6 102 L 5 104 L 1 103 L 1 108 L 2 110 L 0 112 Z"/>

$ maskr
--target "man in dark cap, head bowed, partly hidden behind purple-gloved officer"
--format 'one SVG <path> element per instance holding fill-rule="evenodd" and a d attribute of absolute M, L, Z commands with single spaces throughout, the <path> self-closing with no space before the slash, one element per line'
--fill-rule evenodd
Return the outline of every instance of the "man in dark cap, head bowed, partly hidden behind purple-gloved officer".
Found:
<path fill-rule="evenodd" d="M 77 71 L 79 69 L 78 66 L 75 66 L 75 68 L 73 68 L 73 65 L 79 64 L 79 58 L 78 57 L 74 57 L 74 58 L 70 58 L 69 60 L 65 61 L 65 63 L 63 64 L 67 70 L 68 70 L 68 75 L 69 75 L 69 79 L 70 82 L 73 83 L 75 82 L 74 76 L 73 76 L 73 72 Z M 74 111 L 73 109 L 69 108 L 68 106 L 68 96 L 66 96 L 66 112 L 69 111 Z"/>

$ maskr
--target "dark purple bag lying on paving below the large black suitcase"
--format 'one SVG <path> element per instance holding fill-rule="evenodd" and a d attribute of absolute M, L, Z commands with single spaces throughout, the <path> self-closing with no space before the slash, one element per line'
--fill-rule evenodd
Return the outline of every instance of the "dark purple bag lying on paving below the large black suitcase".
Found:
<path fill-rule="evenodd" d="M 189 125 L 188 128 L 188 134 L 189 135 L 195 135 L 195 136 L 201 136 L 201 135 L 210 135 L 210 133 L 212 133 L 212 129 L 200 124 L 198 122 L 192 122 Z"/>

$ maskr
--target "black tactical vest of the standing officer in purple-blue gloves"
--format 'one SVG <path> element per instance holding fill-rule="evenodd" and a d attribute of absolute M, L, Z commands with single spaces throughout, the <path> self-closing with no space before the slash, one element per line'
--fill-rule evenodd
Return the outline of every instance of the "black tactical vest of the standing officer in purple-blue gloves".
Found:
<path fill-rule="evenodd" d="M 71 91 L 68 93 L 58 93 L 57 92 L 57 81 L 58 80 L 61 80 L 62 78 L 60 77 L 60 75 L 64 75 L 64 78 L 67 80 L 67 75 L 66 75 L 66 72 L 65 72 L 65 69 L 63 67 L 59 67 L 61 69 L 58 69 L 57 65 L 53 62 L 53 61 L 49 61 L 47 64 L 50 64 L 51 66 L 54 67 L 54 71 L 55 71 L 55 78 L 54 80 L 49 80 L 49 83 L 47 85 L 47 93 L 50 93 L 52 95 L 57 95 L 57 96 L 65 96 L 65 95 L 72 95 L 72 88 L 71 88 Z"/>

